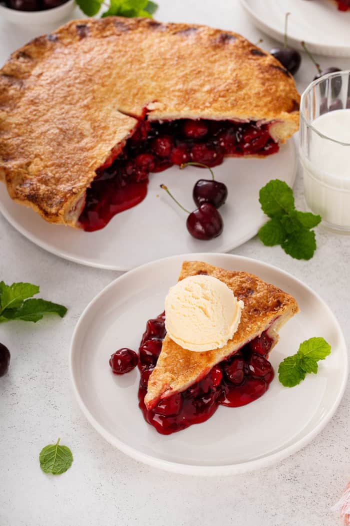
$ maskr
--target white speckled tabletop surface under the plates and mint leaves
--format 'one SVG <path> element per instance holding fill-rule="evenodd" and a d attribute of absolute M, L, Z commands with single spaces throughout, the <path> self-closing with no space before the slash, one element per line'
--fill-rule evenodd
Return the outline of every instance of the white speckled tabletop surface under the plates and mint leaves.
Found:
<path fill-rule="evenodd" d="M 260 32 L 242 12 L 238 0 L 169 2 L 163 21 L 208 23 L 230 28 L 256 42 Z M 30 36 L 0 22 L 0 60 Z M 6 48 L 5 46 L 8 46 Z M 264 37 L 262 47 L 272 45 Z M 324 67 L 349 67 L 346 59 L 320 57 Z M 313 77 L 304 59 L 296 76 L 303 89 Z M 296 203 L 302 206 L 302 184 Z M 350 238 L 317 229 L 314 258 L 296 261 L 279 247 L 253 239 L 234 253 L 285 269 L 304 280 L 328 302 L 349 328 Z M 7 376 L 0 379 L 0 524 L 1 526 L 335 526 L 330 511 L 350 478 L 350 389 L 335 417 L 299 453 L 277 466 L 227 478 L 177 476 L 143 466 L 114 449 L 80 412 L 70 389 L 68 349 L 73 327 L 84 306 L 120 273 L 82 267 L 47 254 L 20 236 L 0 217 L 0 279 L 32 281 L 41 295 L 69 307 L 65 319 L 37 325 L 10 322 L 0 326 L 0 341 L 12 352 Z M 137 247 L 135 247 L 135 250 Z M 286 410 L 288 410 L 286 408 Z M 40 471 L 38 454 L 49 442 L 70 446 L 72 468 L 60 477 Z M 232 444 L 234 447 L 234 444 Z"/>

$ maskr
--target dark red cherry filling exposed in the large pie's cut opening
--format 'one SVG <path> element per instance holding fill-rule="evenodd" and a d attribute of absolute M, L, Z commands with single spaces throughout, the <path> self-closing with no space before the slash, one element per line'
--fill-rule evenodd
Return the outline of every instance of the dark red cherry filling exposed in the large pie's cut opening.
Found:
<path fill-rule="evenodd" d="M 146 196 L 150 173 L 188 161 L 216 166 L 229 155 L 271 155 L 279 146 L 270 124 L 232 120 L 166 122 L 140 120 L 122 151 L 116 150 L 96 171 L 79 217 L 86 231 L 103 228 L 115 214 L 139 204 Z"/>

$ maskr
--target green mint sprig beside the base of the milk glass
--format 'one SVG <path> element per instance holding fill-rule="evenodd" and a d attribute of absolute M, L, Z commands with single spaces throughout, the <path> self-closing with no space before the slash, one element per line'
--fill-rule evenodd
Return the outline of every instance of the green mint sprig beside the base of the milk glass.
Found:
<path fill-rule="evenodd" d="M 258 236 L 264 245 L 281 245 L 295 259 L 311 259 L 316 250 L 315 233 L 321 216 L 295 209 L 293 190 L 284 181 L 274 179 L 260 189 L 263 212 L 271 219 Z"/>

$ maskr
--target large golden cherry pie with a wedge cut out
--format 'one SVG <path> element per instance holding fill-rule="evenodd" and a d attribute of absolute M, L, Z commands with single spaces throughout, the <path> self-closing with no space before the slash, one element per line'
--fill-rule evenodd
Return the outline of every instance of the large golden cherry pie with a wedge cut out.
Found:
<path fill-rule="evenodd" d="M 228 31 L 73 21 L 0 70 L 0 179 L 52 223 L 105 226 L 186 161 L 265 157 L 297 129 L 292 76 Z"/>

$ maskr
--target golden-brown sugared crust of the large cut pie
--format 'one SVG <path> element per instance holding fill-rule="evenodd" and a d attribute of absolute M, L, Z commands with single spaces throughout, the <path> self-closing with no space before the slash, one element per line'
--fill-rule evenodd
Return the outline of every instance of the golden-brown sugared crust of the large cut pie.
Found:
<path fill-rule="evenodd" d="M 235 33 L 147 18 L 84 19 L 34 39 L 0 70 L 0 180 L 46 220 L 76 226 L 110 150 L 150 119 L 277 121 L 298 129 L 300 97 L 271 55 Z"/>

